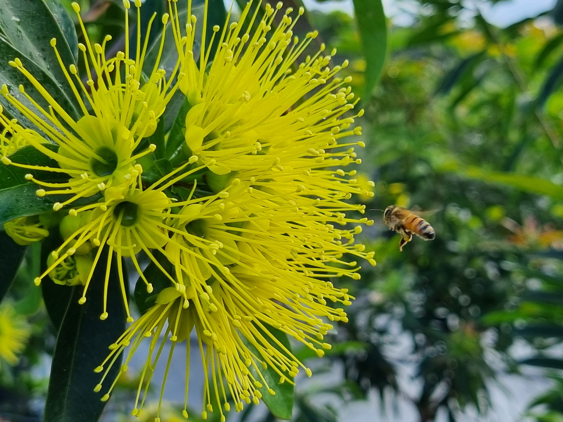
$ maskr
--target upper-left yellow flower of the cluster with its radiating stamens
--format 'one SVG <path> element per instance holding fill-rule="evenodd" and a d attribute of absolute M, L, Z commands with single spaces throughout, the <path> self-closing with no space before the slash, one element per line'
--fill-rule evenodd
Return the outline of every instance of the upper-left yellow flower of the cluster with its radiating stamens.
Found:
<path fill-rule="evenodd" d="M 123 1 L 126 9 L 130 7 L 129 1 Z M 56 47 L 56 39 L 51 40 L 51 46 L 59 59 L 63 73 L 66 76 L 69 88 L 81 107 L 83 117 L 75 120 L 53 98 L 25 68 L 25 64 L 18 58 L 10 61 L 14 68 L 21 71 L 35 89 L 49 104 L 47 110 L 25 92 L 25 87 L 20 86 L 20 91 L 34 105 L 28 108 L 17 100 L 6 85 L 1 93 L 12 105 L 46 134 L 48 141 L 59 146 L 58 151 L 48 149 L 44 144 L 46 140 L 35 132 L 23 130 L 17 124 L 11 124 L 10 131 L 14 137 L 23 138 L 25 143 L 33 145 L 59 163 L 60 168 L 39 168 L 36 165 L 15 163 L 2 152 L 2 163 L 17 165 L 18 167 L 33 170 L 49 170 L 52 172 L 68 173 L 70 180 L 64 183 L 47 183 L 34 179 L 32 174 L 26 178 L 33 180 L 44 188 L 37 190 L 38 196 L 51 194 L 70 194 L 68 200 L 55 203 L 54 210 L 71 204 L 79 197 L 88 197 L 106 188 L 115 185 L 131 183 L 135 160 L 154 151 L 154 145 L 136 153 L 143 138 L 150 136 L 157 127 L 157 119 L 162 115 L 169 98 L 175 92 L 172 81 L 175 80 L 178 65 L 172 74 L 166 78 L 166 71 L 158 69 L 160 55 L 162 54 L 164 35 L 158 51 L 158 59 L 151 73 L 144 82 L 142 70 L 148 46 L 148 35 L 141 43 L 140 25 L 140 0 L 135 1 L 137 8 L 137 49 L 129 51 L 129 22 L 128 14 L 125 17 L 125 51 L 118 52 L 115 57 L 106 59 L 105 46 L 111 39 L 110 35 L 104 38 L 102 44 L 92 44 L 81 16 L 77 3 L 72 4 L 77 13 L 79 25 L 82 28 L 85 43 L 79 43 L 87 71 L 86 86 L 82 83 L 81 76 L 74 64 L 66 67 L 62 62 Z M 150 33 L 153 23 L 151 19 L 146 33 Z M 168 15 L 163 16 L 166 25 Z M 129 59 L 129 57 L 134 57 Z M 4 119 L 6 121 L 6 119 Z M 47 189 L 45 189 L 47 188 Z"/>

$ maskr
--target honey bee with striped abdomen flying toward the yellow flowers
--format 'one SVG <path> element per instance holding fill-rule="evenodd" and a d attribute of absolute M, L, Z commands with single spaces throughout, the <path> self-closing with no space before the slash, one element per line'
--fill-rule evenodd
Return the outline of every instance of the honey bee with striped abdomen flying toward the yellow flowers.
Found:
<path fill-rule="evenodd" d="M 383 222 L 402 235 L 399 250 L 413 239 L 413 234 L 424 240 L 434 239 L 434 228 L 422 217 L 402 206 L 389 205 L 383 212 Z"/>

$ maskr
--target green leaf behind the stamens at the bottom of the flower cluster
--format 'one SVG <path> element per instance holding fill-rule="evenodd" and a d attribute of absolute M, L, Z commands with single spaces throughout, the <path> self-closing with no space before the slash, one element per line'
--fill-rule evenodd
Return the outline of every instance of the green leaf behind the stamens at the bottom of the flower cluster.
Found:
<path fill-rule="evenodd" d="M 289 351 L 291 351 L 291 344 L 289 344 L 289 339 L 287 338 L 287 334 L 283 331 L 280 331 L 270 325 L 263 324 L 265 329 L 269 331 L 280 343 L 284 345 Z M 270 336 L 265 332 L 265 330 L 257 329 L 261 332 L 265 339 L 270 340 L 272 346 L 276 347 L 273 343 Z M 254 353 L 258 358 L 260 358 L 261 354 L 258 352 L 256 347 L 254 347 L 247 339 L 243 338 L 243 342 L 247 345 L 252 353 Z M 260 380 L 260 375 L 258 375 L 258 371 L 251 365 L 248 368 L 252 375 Z M 271 366 L 268 366 L 267 369 L 261 369 L 262 376 L 266 380 L 268 386 L 275 391 L 275 395 L 272 396 L 267 388 L 266 385 L 262 385 L 262 387 L 258 388 L 262 393 L 262 400 L 265 405 L 270 409 L 272 414 L 279 419 L 289 420 L 291 419 L 292 412 L 293 412 L 293 399 L 294 399 L 294 391 L 293 391 L 293 384 L 288 383 L 285 381 L 283 384 L 278 384 L 280 376 L 278 372 L 276 372 Z M 289 378 L 289 377 L 288 377 Z M 293 379 L 292 379 L 293 381 Z"/>

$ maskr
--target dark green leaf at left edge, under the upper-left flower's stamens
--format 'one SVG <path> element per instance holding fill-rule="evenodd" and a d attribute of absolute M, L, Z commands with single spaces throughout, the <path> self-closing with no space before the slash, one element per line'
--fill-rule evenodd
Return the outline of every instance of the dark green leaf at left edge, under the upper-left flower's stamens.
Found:
<path fill-rule="evenodd" d="M 57 150 L 55 145 L 45 145 L 48 149 Z M 24 146 L 9 156 L 14 163 L 37 165 L 40 167 L 58 168 L 57 162 L 32 145 Z M 26 174 L 43 182 L 65 182 L 68 174 L 30 170 L 15 165 L 0 163 L 0 224 L 17 217 L 34 216 L 51 211 L 53 204 L 68 199 L 68 195 L 37 196 L 38 186 L 25 178 Z M 96 194 L 74 201 L 74 206 L 96 202 L 101 194 Z"/>

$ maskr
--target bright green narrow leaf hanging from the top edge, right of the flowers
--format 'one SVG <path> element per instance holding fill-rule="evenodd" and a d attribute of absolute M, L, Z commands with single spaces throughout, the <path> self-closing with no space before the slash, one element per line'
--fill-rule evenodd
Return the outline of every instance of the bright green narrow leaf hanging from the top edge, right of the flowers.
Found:
<path fill-rule="evenodd" d="M 365 56 L 365 93 L 367 99 L 383 71 L 387 56 L 387 22 L 381 0 L 354 0 L 361 46 Z"/>

